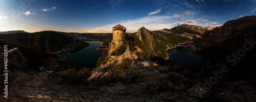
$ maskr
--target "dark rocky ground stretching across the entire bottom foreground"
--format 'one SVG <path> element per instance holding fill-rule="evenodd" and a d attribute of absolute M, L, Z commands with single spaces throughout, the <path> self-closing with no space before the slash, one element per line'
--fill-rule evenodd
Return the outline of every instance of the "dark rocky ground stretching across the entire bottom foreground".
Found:
<path fill-rule="evenodd" d="M 146 68 L 146 67 L 145 67 Z M 157 72 L 151 68 L 145 73 Z M 142 71 L 142 72 L 143 72 Z M 159 70 L 158 70 L 159 71 Z M 187 88 L 183 84 L 168 83 L 170 91 L 157 91 L 161 82 L 156 82 L 161 75 L 152 75 L 141 79 L 148 82 L 126 84 L 115 82 L 96 86 L 92 82 L 87 85 L 67 85 L 55 73 L 19 71 L 10 72 L 14 80 L 10 83 L 8 99 L 2 95 L 1 101 L 256 101 L 255 82 L 232 82 L 223 85 L 222 91 L 205 90 L 203 83 L 197 83 Z M 166 74 L 166 73 L 164 73 Z M 174 72 L 166 76 L 183 77 Z M 154 79 L 154 77 L 157 77 Z M 253 86 L 254 85 L 254 86 Z M 145 92 L 150 93 L 145 93 Z"/>

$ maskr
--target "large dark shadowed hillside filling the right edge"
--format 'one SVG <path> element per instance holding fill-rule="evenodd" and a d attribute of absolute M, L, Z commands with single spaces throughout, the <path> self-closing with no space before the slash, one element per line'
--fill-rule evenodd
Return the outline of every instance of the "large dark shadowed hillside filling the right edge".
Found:
<path fill-rule="evenodd" d="M 241 81 L 256 78 L 256 49 L 253 47 L 256 41 L 256 23 L 252 23 L 256 19 L 240 22 L 247 18 L 255 16 L 227 21 L 224 25 L 226 27 L 216 27 L 209 33 L 208 38 L 196 43 L 202 50 L 195 53 L 210 60 L 208 68 L 204 70 L 205 76 L 210 77 L 211 71 L 220 70 L 222 65 L 227 65 L 229 71 L 223 80 Z"/>

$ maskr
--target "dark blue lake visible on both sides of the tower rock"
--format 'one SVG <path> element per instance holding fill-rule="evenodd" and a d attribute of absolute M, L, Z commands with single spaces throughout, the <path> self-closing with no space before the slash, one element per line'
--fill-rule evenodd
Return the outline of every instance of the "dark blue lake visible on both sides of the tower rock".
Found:
<path fill-rule="evenodd" d="M 70 55 L 67 55 L 66 59 L 74 61 L 79 67 L 95 68 L 98 58 L 101 57 L 102 51 L 97 50 L 102 41 L 86 41 L 90 45 L 87 47 L 75 48 Z M 194 54 L 187 51 L 191 51 L 190 47 L 179 46 L 168 52 L 169 60 L 179 62 L 185 69 L 194 69 L 197 72 L 201 72 L 205 69 L 207 62 Z M 63 53 L 63 52 L 60 52 Z"/>

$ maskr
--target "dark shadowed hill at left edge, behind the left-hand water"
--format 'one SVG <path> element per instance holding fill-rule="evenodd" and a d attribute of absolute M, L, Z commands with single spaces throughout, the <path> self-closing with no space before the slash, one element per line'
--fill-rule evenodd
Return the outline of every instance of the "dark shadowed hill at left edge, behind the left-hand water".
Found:
<path fill-rule="evenodd" d="M 78 46 L 88 46 L 88 43 L 81 42 L 73 37 L 51 32 L 41 31 L 34 33 L 11 33 L 8 35 L 0 34 L 0 40 L 12 42 L 19 45 L 29 46 L 32 49 L 56 53 L 59 50 L 67 49 L 69 44 L 80 43 Z"/>

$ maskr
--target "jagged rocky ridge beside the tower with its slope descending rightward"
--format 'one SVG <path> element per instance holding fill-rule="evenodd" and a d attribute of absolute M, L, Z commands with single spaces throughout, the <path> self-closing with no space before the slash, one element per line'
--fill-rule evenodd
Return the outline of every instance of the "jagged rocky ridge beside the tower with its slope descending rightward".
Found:
<path fill-rule="evenodd" d="M 180 43 L 190 42 L 186 37 L 178 37 L 162 31 L 150 31 L 145 27 L 138 29 L 136 33 L 130 35 L 134 38 L 135 47 L 142 52 L 136 52 L 139 56 L 162 57 L 168 59 L 166 50 L 178 46 Z"/>

